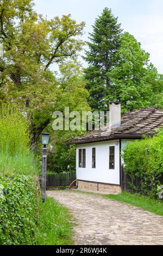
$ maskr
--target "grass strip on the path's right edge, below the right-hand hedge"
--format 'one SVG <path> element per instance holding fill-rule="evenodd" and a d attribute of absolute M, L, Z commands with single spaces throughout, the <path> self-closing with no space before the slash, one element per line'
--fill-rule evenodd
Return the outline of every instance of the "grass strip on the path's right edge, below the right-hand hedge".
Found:
<path fill-rule="evenodd" d="M 106 198 L 118 200 L 123 203 L 135 205 L 154 214 L 163 216 L 163 203 L 157 200 L 141 196 L 139 194 L 131 194 L 129 192 L 122 192 L 121 194 L 107 194 Z"/>

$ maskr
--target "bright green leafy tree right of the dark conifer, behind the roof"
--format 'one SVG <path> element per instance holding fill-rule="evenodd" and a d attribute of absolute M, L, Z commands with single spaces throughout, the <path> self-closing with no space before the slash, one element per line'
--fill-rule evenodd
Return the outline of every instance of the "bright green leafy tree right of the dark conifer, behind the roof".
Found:
<path fill-rule="evenodd" d="M 121 36 L 116 58 L 115 68 L 108 72 L 111 83 L 106 99 L 121 101 L 123 112 L 139 107 L 163 107 L 163 75 L 158 74 L 149 61 L 149 53 L 133 35 Z"/>

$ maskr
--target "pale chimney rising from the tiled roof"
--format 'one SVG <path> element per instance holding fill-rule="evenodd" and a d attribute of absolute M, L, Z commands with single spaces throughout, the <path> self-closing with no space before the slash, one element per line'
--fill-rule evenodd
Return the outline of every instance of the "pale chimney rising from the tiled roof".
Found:
<path fill-rule="evenodd" d="M 110 129 L 117 128 L 121 125 L 121 102 L 109 103 L 109 121 Z"/>

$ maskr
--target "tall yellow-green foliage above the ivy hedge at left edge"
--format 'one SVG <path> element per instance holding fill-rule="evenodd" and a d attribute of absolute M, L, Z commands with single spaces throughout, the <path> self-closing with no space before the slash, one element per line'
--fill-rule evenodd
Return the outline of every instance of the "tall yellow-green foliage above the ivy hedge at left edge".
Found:
<path fill-rule="evenodd" d="M 29 150 L 27 119 L 12 106 L 3 106 L 0 117 L 0 173 L 36 173 L 39 166 Z"/>

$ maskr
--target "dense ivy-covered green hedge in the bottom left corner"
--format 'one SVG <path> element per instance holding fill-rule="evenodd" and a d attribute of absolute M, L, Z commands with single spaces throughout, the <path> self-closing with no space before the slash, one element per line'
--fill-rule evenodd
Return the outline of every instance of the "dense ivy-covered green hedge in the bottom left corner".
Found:
<path fill-rule="evenodd" d="M 33 176 L 0 176 L 0 245 L 35 245 L 39 187 Z"/>

